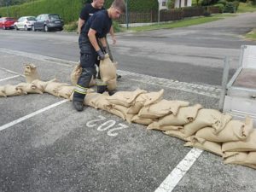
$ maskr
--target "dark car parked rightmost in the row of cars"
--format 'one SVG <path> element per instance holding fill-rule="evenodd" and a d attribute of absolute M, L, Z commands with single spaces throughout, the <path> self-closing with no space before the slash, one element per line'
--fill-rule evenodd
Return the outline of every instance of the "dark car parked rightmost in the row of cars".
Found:
<path fill-rule="evenodd" d="M 36 21 L 32 25 L 32 31 L 43 30 L 49 32 L 51 30 L 62 31 L 64 22 L 60 15 L 57 14 L 42 14 L 38 15 Z"/>

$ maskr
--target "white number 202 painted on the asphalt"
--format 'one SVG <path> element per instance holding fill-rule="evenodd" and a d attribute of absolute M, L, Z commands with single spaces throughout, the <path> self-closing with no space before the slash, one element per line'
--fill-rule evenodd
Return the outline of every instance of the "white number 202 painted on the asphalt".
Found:
<path fill-rule="evenodd" d="M 119 135 L 117 131 L 124 130 L 128 128 L 128 125 L 124 124 L 117 124 L 115 120 L 107 120 L 107 118 L 103 117 L 102 115 L 99 115 L 97 119 L 90 120 L 86 123 L 86 126 L 88 127 L 96 127 L 97 131 L 108 131 L 108 136 L 116 137 Z M 105 122 L 102 122 L 105 121 Z M 100 125 L 98 125 L 100 123 Z"/>

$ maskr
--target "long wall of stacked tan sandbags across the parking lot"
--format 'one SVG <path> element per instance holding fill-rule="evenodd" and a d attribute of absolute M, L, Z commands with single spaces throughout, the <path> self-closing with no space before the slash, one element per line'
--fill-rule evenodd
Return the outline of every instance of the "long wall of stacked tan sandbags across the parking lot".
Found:
<path fill-rule="evenodd" d="M 106 62 L 108 66 L 111 61 Z M 115 73 L 105 70 L 104 64 L 102 66 L 102 77 L 108 77 L 103 81 L 111 84 L 109 81 Z M 26 65 L 25 76 L 26 83 L 0 86 L 0 96 L 47 92 L 69 100 L 73 98 L 73 85 L 59 83 L 55 79 L 41 81 L 34 65 Z M 108 111 L 129 123 L 147 125 L 149 130 L 163 131 L 168 136 L 180 138 L 186 141 L 184 146 L 222 156 L 225 164 L 256 168 L 256 129 L 253 129 L 252 119 L 247 117 L 244 122 L 232 119 L 230 114 L 203 108 L 201 104 L 189 106 L 189 102 L 168 101 L 163 99 L 163 94 L 164 90 L 148 92 L 137 89 L 109 96 L 108 93 L 90 90 L 84 98 L 84 105 Z"/>

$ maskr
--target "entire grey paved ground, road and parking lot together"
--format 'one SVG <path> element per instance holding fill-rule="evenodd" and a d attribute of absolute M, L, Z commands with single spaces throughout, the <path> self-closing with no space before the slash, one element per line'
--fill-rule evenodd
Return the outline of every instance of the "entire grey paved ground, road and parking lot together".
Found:
<path fill-rule="evenodd" d="M 224 57 L 230 57 L 231 75 L 241 44 L 256 44 L 241 38 L 255 26 L 251 13 L 119 33 L 111 46 L 122 75 L 119 90 L 164 89 L 168 100 L 218 108 Z M 0 86 L 24 82 L 25 63 L 34 63 L 44 80 L 70 83 L 79 60 L 76 34 L 1 30 L 0 37 Z M 256 191 L 255 170 L 224 165 L 215 154 L 95 108 L 78 113 L 49 94 L 1 97 L 0 108 L 1 192 Z"/>

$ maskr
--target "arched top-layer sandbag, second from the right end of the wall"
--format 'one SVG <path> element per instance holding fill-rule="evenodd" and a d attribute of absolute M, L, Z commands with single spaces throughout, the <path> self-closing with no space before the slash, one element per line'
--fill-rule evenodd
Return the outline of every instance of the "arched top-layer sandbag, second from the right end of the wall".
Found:
<path fill-rule="evenodd" d="M 206 126 L 212 126 L 216 132 L 218 132 L 224 129 L 224 126 L 230 119 L 232 119 L 232 117 L 229 114 L 220 113 L 215 109 L 203 108 L 199 110 L 193 122 L 184 125 L 184 133 L 189 137 Z"/>

